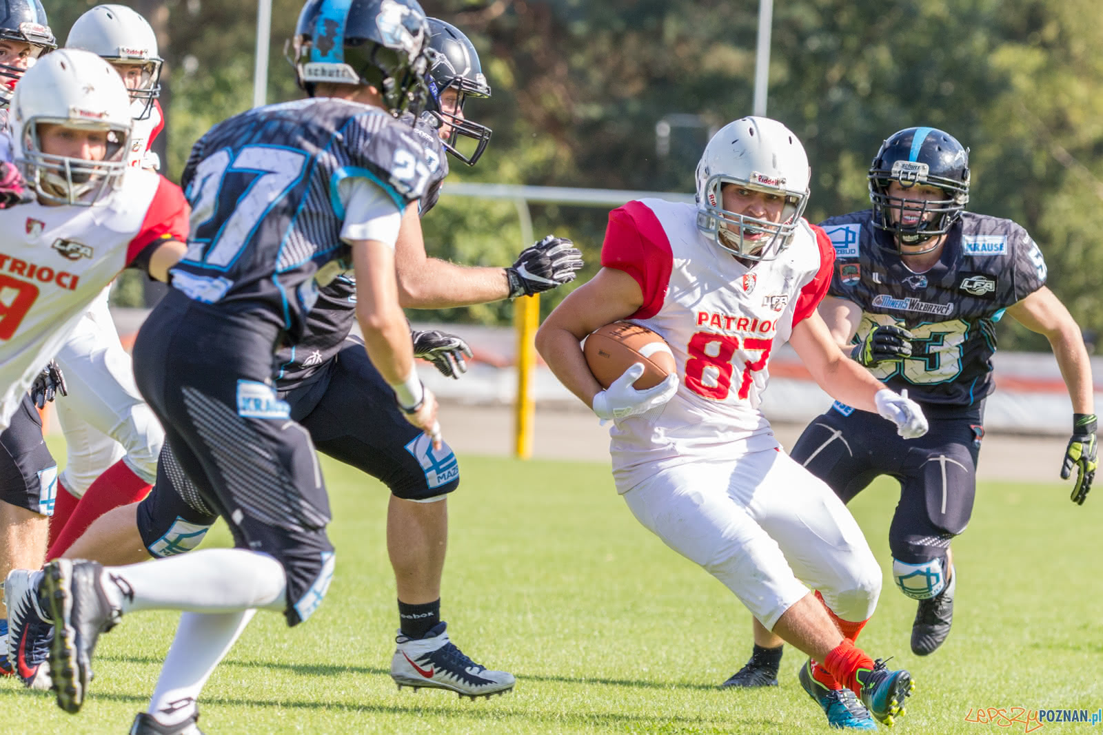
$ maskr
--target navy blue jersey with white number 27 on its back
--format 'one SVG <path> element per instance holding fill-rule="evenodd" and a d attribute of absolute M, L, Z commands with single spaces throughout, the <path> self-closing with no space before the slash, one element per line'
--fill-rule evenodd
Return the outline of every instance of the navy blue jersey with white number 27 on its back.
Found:
<path fill-rule="evenodd" d="M 338 185 L 362 176 L 403 210 L 426 196 L 439 144 L 385 110 L 320 97 L 216 125 L 181 183 L 192 205 L 188 253 L 172 285 L 196 301 L 255 314 L 298 342 L 319 282 L 349 268 Z"/>

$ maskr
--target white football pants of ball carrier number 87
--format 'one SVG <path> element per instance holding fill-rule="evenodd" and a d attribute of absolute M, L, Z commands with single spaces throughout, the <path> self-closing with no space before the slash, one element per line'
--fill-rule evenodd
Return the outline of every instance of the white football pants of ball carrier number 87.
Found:
<path fill-rule="evenodd" d="M 874 614 L 881 570 L 861 529 L 831 488 L 784 452 L 667 467 L 622 497 L 641 523 L 771 630 L 808 587 L 844 620 Z"/>

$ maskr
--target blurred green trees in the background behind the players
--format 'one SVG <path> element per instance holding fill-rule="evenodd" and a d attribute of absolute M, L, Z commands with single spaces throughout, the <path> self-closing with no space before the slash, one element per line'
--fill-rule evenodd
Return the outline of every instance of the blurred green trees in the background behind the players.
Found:
<path fill-rule="evenodd" d="M 45 0 L 64 39 L 92 0 Z M 164 173 L 253 98 L 250 0 L 137 0 L 167 60 Z M 274 0 L 268 101 L 298 95 L 283 41 L 301 2 Z M 757 0 L 425 0 L 474 42 L 493 88 L 467 112 L 494 129 L 454 181 L 693 191 L 709 131 L 752 107 Z M 880 141 L 917 125 L 971 148 L 970 208 L 1024 225 L 1049 284 L 1085 331 L 1103 331 L 1103 13 L 1094 0 L 777 0 L 768 115 L 803 140 L 813 221 L 866 208 Z M 656 123 L 670 127 L 668 151 Z M 446 193 L 447 193 L 446 184 Z M 425 220 L 431 255 L 507 264 L 512 204 L 445 196 Z M 607 213 L 532 206 L 537 236 L 571 237 L 596 270 Z M 558 293 L 558 292 L 556 292 Z M 547 310 L 561 298 L 545 298 Z M 442 318 L 504 322 L 508 304 Z M 422 315 L 416 315 L 422 316 Z M 1005 321 L 1007 322 L 1007 321 Z M 1005 325 L 1003 347 L 1046 348 Z"/>

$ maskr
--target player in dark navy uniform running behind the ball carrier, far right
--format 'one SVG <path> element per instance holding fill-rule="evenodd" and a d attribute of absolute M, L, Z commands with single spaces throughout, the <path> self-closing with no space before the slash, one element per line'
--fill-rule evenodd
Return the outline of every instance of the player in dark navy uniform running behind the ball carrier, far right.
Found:
<path fill-rule="evenodd" d="M 927 127 L 893 133 L 868 180 L 872 208 L 822 223 L 837 264 L 820 310 L 855 361 L 922 406 L 931 431 L 904 445 L 836 402 L 808 424 L 792 456 L 844 502 L 879 475 L 900 482 L 889 527 L 892 576 L 918 603 L 912 652 L 928 656 L 953 619 L 950 544 L 973 512 L 996 323 L 1007 314 L 1053 348 L 1073 411 L 1060 472 L 1075 474 L 1077 504 L 1096 468 L 1091 364 L 1080 328 L 1046 287 L 1038 244 L 1009 219 L 965 209 L 968 150 L 953 136 Z M 758 625 L 754 640 L 732 684 L 769 684 L 777 674 L 782 641 Z"/>

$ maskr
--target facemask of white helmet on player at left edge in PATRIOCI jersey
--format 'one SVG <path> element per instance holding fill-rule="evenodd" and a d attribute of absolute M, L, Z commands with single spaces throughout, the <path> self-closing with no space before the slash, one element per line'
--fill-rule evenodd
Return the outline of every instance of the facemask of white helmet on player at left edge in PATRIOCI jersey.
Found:
<path fill-rule="evenodd" d="M 41 125 L 104 130 L 107 133 L 107 152 L 99 161 L 46 153 L 42 149 Z M 127 172 L 129 127 L 39 117 L 28 120 L 24 136 L 23 158 L 17 163 L 28 186 L 42 202 L 92 206 L 121 185 L 122 175 Z"/>

